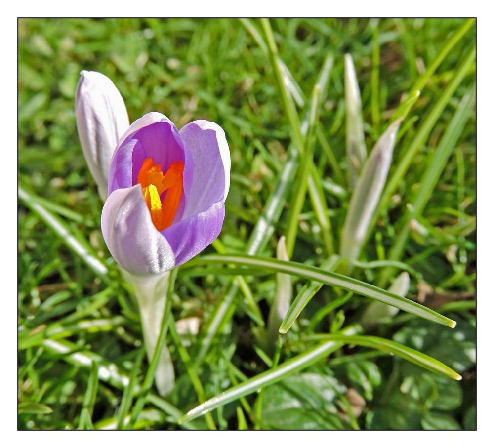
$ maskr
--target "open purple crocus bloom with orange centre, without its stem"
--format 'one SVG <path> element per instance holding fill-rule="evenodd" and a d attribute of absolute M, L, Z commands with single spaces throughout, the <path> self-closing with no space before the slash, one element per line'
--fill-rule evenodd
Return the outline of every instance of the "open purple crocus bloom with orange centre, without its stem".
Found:
<path fill-rule="evenodd" d="M 169 271 L 219 235 L 230 151 L 216 123 L 180 131 L 151 112 L 121 136 L 110 164 L 101 229 L 115 260 L 135 275 Z"/>

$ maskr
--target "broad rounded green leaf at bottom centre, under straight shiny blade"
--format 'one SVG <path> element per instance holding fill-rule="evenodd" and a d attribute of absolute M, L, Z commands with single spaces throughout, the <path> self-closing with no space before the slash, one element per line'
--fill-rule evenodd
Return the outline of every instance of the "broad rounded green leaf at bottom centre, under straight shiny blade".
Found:
<path fill-rule="evenodd" d="M 346 388 L 329 376 L 293 375 L 264 391 L 263 429 L 349 429 L 333 404 L 344 392 Z"/>

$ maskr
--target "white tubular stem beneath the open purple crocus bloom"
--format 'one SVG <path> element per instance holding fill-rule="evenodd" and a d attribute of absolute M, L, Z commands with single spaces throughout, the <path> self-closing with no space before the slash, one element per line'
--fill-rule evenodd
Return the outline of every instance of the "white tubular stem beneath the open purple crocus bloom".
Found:
<path fill-rule="evenodd" d="M 125 278 L 134 287 L 135 296 L 141 315 L 142 332 L 148 360 L 151 362 L 163 321 L 166 308 L 166 292 L 170 273 L 156 276 L 136 276 L 125 272 Z M 169 394 L 175 382 L 173 363 L 166 345 L 160 356 L 155 372 L 158 392 L 162 397 Z"/>

